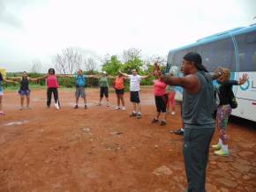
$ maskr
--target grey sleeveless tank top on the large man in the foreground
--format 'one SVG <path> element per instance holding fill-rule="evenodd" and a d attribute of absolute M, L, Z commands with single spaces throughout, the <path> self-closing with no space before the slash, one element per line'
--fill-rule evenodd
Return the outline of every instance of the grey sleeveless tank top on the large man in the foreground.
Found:
<path fill-rule="evenodd" d="M 200 79 L 201 88 L 196 94 L 191 94 L 184 89 L 182 105 L 184 128 L 215 127 L 213 119 L 215 100 L 212 78 L 204 71 L 198 71 L 195 75 Z"/>

